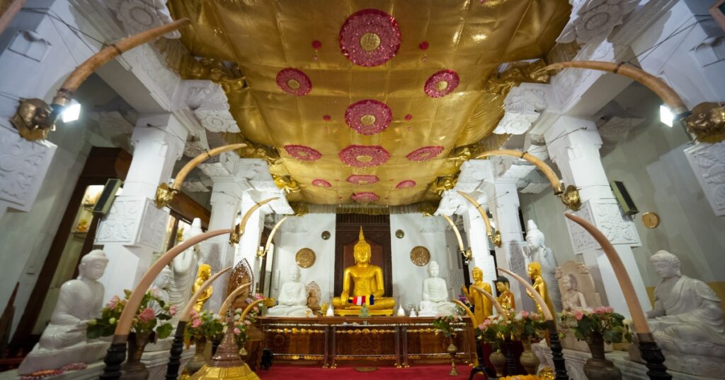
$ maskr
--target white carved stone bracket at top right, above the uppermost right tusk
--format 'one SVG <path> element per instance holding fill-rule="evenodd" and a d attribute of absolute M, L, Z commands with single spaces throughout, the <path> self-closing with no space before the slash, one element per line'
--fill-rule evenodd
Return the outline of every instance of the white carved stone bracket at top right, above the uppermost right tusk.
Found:
<path fill-rule="evenodd" d="M 634 11 L 639 0 L 569 0 L 572 5 L 569 20 L 558 43 L 589 43 L 607 38 L 624 17 Z"/>

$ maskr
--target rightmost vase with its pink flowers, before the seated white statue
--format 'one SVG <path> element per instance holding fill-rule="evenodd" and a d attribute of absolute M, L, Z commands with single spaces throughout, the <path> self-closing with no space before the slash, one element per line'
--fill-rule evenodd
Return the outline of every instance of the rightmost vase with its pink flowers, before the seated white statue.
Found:
<path fill-rule="evenodd" d="M 571 329 L 576 339 L 589 345 L 592 358 L 584 364 L 588 379 L 622 379 L 622 372 L 604 355 L 604 343 L 631 342 L 631 331 L 624 316 L 608 306 L 579 308 L 565 311 L 560 316 L 561 326 Z"/>

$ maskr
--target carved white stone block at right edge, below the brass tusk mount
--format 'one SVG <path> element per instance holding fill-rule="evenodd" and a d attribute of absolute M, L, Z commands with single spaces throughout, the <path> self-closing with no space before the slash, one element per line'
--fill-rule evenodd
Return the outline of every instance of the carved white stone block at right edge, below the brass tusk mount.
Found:
<path fill-rule="evenodd" d="M 713 212 L 725 215 L 725 141 L 716 144 L 699 143 L 684 151 L 697 182 L 705 192 Z"/>

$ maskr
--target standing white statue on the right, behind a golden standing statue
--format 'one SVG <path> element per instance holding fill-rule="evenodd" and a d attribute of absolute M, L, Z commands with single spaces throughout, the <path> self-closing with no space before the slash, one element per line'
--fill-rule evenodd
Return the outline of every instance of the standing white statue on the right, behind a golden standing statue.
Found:
<path fill-rule="evenodd" d="M 549 295 L 555 311 L 561 311 L 561 295 L 559 284 L 556 279 L 556 257 L 551 248 L 544 245 L 544 233 L 541 232 L 533 220 L 526 223 L 526 243 L 524 250 L 526 266 L 529 263 L 540 263 L 542 266 L 542 277 L 548 285 Z"/>

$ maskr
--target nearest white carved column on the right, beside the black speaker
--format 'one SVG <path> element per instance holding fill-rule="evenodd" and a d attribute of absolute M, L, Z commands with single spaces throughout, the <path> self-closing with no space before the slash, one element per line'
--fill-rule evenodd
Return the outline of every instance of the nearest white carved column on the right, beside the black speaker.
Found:
<path fill-rule="evenodd" d="M 629 216 L 622 213 L 610 189 L 599 155 L 602 140 L 595 123 L 563 116 L 544 133 L 544 138 L 552 161 L 560 169 L 563 182 L 579 188 L 582 205 L 573 214 L 595 224 L 608 237 L 628 271 L 639 302 L 648 305 L 650 301 L 645 283 L 631 249 L 641 245 L 639 235 Z M 600 293 L 603 291 L 608 305 L 618 313 L 629 316 L 624 295 L 608 258 L 591 235 L 578 224 L 566 220 L 573 251 L 584 256 L 584 263 L 592 271 L 597 290 Z"/>

